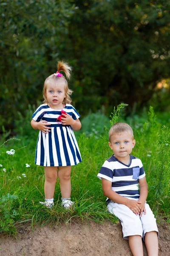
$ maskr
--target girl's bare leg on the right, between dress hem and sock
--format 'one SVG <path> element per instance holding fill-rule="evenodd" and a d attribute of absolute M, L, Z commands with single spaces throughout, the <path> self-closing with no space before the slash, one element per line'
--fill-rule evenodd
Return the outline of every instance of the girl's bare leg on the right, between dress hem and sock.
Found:
<path fill-rule="evenodd" d="M 58 177 L 60 181 L 60 189 L 62 198 L 70 198 L 71 196 L 71 166 L 59 166 Z"/>

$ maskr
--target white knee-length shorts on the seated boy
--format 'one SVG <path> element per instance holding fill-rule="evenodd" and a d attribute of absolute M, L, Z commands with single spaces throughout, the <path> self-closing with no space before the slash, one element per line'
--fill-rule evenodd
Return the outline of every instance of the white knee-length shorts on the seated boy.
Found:
<path fill-rule="evenodd" d="M 121 221 L 124 239 L 128 239 L 129 236 L 139 235 L 143 237 L 144 240 L 145 233 L 150 231 L 156 231 L 159 236 L 156 218 L 154 217 L 149 204 L 145 203 L 145 209 L 146 215 L 143 213 L 142 216 L 139 217 L 139 214 L 136 215 L 124 204 L 114 202 L 108 204 L 109 212 L 114 214 Z"/>

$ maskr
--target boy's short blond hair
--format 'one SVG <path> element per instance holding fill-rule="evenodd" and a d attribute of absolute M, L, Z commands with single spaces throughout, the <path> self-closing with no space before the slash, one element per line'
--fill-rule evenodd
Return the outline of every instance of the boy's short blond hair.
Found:
<path fill-rule="evenodd" d="M 124 122 L 117 122 L 111 127 L 109 131 L 109 142 L 111 142 L 111 137 L 113 134 L 121 134 L 124 131 L 127 131 L 132 136 L 132 140 L 134 139 L 133 130 L 130 125 Z"/>

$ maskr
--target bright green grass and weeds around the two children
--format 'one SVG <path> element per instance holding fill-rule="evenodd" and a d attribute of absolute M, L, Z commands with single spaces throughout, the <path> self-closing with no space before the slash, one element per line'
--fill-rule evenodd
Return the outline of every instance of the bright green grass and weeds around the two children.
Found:
<path fill-rule="evenodd" d="M 123 106 L 119 107 L 121 109 Z M 29 109 L 30 114 L 31 112 Z M 113 112 L 111 122 L 116 120 L 115 115 L 119 118 L 118 121 L 125 121 L 133 128 L 136 145 L 132 154 L 142 160 L 146 172 L 149 189 L 147 202 L 158 219 L 169 221 L 170 129 L 162 125 L 163 121 L 161 123 L 160 118 L 156 117 L 152 107 L 145 118 L 135 116 L 123 120 L 118 111 Z M 6 140 L 8 133 L 5 131 L 1 138 L 0 233 L 15 235 L 17 224 L 27 221 L 31 223 L 32 229 L 35 223 L 67 224 L 74 217 L 82 221 L 109 219 L 113 223 L 117 222 L 118 219 L 107 211 L 101 180 L 96 177 L 102 163 L 112 154 L 108 147 L 108 132 L 105 129 L 100 130 L 100 135 L 94 129 L 86 134 L 75 132 L 76 136 L 78 134 L 77 140 L 82 154 L 82 163 L 73 166 L 71 171 L 71 198 L 75 201 L 75 207 L 69 210 L 61 207 L 57 180 L 54 208 L 47 209 L 39 203 L 43 201 L 45 176 L 43 166 L 34 164 L 38 131 L 32 130 L 29 119 L 29 114 L 26 122 L 23 122 L 24 119 L 20 116 L 20 122 L 17 124 L 20 135 L 17 138 Z M 91 120 L 90 116 L 89 119 Z M 96 117 L 96 122 L 99 120 L 99 117 Z M 88 122 L 88 118 L 85 121 Z M 96 127 L 95 120 L 93 127 Z M 15 150 L 14 155 L 6 153 L 11 149 Z M 26 164 L 30 167 L 26 167 Z"/>

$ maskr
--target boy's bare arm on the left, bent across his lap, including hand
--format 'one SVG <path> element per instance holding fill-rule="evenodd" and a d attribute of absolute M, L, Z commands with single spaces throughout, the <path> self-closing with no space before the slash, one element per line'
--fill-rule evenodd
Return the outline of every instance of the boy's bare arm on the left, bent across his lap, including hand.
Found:
<path fill-rule="evenodd" d="M 131 200 L 131 199 L 125 198 L 122 195 L 117 194 L 116 192 L 111 190 L 111 185 L 112 185 L 111 181 L 102 178 L 102 189 L 103 189 L 104 195 L 118 204 L 125 204 L 136 215 L 138 215 L 141 212 L 141 209 L 140 209 L 141 203 L 139 201 Z"/>

